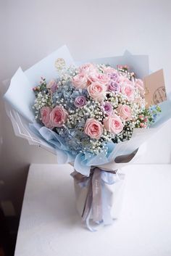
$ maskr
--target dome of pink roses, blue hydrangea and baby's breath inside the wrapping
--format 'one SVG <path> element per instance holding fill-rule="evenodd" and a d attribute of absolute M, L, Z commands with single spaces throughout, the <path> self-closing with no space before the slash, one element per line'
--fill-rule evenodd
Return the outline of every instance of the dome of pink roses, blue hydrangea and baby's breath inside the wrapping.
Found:
<path fill-rule="evenodd" d="M 36 120 L 64 139 L 73 154 L 107 152 L 109 142 L 129 140 L 133 128 L 148 128 L 160 112 L 146 109 L 141 79 L 128 66 L 88 63 L 33 88 Z"/>

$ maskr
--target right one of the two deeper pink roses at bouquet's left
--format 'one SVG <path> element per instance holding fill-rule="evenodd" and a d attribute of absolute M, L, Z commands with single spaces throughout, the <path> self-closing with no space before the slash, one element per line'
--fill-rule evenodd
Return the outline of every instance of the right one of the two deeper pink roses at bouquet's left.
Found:
<path fill-rule="evenodd" d="M 64 123 L 67 121 L 67 116 L 68 113 L 67 110 L 64 110 L 64 107 L 54 107 L 50 113 L 51 125 L 54 127 L 62 127 L 62 125 L 64 125 Z"/>

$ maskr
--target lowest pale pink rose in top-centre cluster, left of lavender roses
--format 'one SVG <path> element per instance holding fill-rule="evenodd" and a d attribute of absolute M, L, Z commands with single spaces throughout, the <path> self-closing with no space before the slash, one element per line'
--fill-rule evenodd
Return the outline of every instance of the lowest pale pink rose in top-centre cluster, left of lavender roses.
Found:
<path fill-rule="evenodd" d="M 90 86 L 88 86 L 87 91 L 91 98 L 97 100 L 98 102 L 101 102 L 102 100 L 104 100 L 107 87 L 99 82 L 94 82 L 91 83 Z"/>

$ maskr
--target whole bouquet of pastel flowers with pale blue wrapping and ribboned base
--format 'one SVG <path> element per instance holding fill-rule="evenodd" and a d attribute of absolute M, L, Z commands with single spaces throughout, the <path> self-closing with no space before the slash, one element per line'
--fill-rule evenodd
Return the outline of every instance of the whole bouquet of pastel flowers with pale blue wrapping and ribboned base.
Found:
<path fill-rule="evenodd" d="M 57 77 L 41 77 L 29 92 L 24 112 L 14 102 L 12 85 L 6 99 L 17 134 L 52 149 L 59 162 L 74 166 L 78 211 L 93 231 L 91 219 L 112 223 L 112 205 L 124 178 L 117 169 L 130 162 L 154 133 L 155 128 L 149 128 L 159 128 L 170 115 L 165 106 L 147 106 L 143 80 L 128 65 L 70 64 L 61 53 L 55 62 Z M 30 87 L 29 82 L 31 91 Z"/>

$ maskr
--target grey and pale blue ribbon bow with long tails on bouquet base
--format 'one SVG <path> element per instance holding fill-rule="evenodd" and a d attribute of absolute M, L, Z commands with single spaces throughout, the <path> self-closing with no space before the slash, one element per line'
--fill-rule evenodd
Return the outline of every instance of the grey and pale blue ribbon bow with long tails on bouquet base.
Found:
<path fill-rule="evenodd" d="M 88 187 L 88 193 L 81 215 L 82 219 L 86 222 L 88 229 L 95 231 L 89 224 L 91 214 L 93 215 L 93 222 L 96 224 L 102 222 L 104 225 L 112 224 L 112 216 L 110 214 L 112 207 L 110 204 L 112 191 L 110 191 L 105 184 L 112 185 L 113 183 L 120 181 L 120 178 L 117 175 L 117 170 L 106 171 L 101 170 L 100 168 L 93 168 L 88 177 L 83 176 L 77 171 L 71 173 L 71 176 L 81 188 L 85 186 Z"/>

